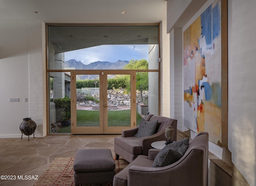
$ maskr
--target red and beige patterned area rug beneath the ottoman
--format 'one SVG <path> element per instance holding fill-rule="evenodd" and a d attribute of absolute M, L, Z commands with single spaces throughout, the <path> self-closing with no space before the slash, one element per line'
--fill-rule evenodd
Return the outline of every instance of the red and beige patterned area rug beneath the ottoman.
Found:
<path fill-rule="evenodd" d="M 34 186 L 74 186 L 74 157 L 71 158 L 55 158 L 50 167 L 40 176 Z M 124 169 L 129 162 L 119 158 L 116 160 L 116 173 Z M 101 183 L 85 186 L 111 186 L 110 183 Z"/>

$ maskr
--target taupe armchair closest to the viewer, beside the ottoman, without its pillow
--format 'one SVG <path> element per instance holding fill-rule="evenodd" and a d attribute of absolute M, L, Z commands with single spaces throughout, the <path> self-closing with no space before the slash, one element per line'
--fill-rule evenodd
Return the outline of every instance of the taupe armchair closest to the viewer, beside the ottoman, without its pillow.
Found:
<path fill-rule="evenodd" d="M 159 149 L 138 156 L 114 176 L 113 186 L 207 186 L 208 133 L 201 132 L 189 143 L 180 160 L 163 167 L 151 167 Z"/>

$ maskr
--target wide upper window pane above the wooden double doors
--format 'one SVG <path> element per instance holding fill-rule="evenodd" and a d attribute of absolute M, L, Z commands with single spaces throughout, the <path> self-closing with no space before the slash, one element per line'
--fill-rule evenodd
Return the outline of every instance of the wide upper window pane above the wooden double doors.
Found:
<path fill-rule="evenodd" d="M 48 26 L 49 70 L 123 69 L 132 59 L 158 69 L 158 52 L 158 25 Z"/>

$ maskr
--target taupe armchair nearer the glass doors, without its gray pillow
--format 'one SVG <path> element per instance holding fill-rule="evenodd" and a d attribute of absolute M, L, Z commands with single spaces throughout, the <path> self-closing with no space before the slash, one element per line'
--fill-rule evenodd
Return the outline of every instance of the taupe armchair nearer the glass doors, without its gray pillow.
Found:
<path fill-rule="evenodd" d="M 151 143 L 155 141 L 167 140 L 164 131 L 168 125 L 174 128 L 173 140 L 177 140 L 177 120 L 158 115 L 148 115 L 146 121 L 158 120 L 158 127 L 156 133 L 148 137 L 137 138 L 134 135 L 138 131 L 138 127 L 122 131 L 121 137 L 114 138 L 114 152 L 116 153 L 116 160 L 122 156 L 128 162 L 132 162 L 138 155 L 148 156 L 148 150 Z"/>

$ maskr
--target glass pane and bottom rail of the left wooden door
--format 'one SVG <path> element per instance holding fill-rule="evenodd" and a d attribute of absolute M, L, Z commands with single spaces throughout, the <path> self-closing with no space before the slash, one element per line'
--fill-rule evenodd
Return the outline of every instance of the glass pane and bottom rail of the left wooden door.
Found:
<path fill-rule="evenodd" d="M 103 115 L 100 105 L 100 75 L 76 74 L 76 112 L 73 134 L 103 133 Z M 90 78 L 88 78 L 90 77 Z"/>

